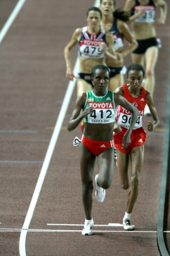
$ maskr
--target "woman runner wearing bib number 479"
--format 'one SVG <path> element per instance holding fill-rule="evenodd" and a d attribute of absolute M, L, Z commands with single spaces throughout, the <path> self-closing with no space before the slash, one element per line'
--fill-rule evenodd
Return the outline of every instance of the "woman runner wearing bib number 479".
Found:
<path fill-rule="evenodd" d="M 89 8 L 86 13 L 88 25 L 76 29 L 70 42 L 65 46 L 64 55 L 67 66 L 66 77 L 73 81 L 77 74 L 73 74 L 71 65 L 71 49 L 78 44 L 78 58 L 80 62 L 79 73 L 77 78 L 77 95 L 92 89 L 91 70 L 97 64 L 105 64 L 105 57 L 112 59 L 114 63 L 120 59 L 114 51 L 114 40 L 112 34 L 105 29 L 101 29 L 101 10 L 97 7 Z M 82 122 L 82 132 L 84 122 Z"/>

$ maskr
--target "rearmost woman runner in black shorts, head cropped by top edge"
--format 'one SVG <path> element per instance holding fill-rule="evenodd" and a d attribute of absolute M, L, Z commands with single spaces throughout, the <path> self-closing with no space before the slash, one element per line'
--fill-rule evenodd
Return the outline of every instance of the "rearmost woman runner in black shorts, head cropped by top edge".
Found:
<path fill-rule="evenodd" d="M 154 69 L 158 60 L 158 48 L 160 42 L 156 40 L 156 25 L 164 25 L 167 17 L 167 3 L 163 0 L 126 0 L 124 10 L 136 14 L 141 8 L 145 12 L 133 23 L 133 35 L 138 42 L 138 47 L 131 54 L 133 63 L 140 63 L 146 66 L 146 79 L 144 87 L 150 94 L 154 95 L 155 74 Z M 156 7 L 160 8 L 160 17 L 156 20 Z M 148 106 L 145 115 L 150 115 Z"/>

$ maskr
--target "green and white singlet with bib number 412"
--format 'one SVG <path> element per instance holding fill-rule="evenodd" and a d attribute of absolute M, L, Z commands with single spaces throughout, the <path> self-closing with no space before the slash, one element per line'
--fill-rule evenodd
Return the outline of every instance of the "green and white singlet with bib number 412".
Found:
<path fill-rule="evenodd" d="M 84 118 L 84 122 L 90 124 L 109 124 L 115 122 L 116 111 L 113 91 L 106 91 L 105 96 L 97 97 L 93 91 L 86 92 L 86 103 L 84 109 L 92 106 L 91 114 Z"/>

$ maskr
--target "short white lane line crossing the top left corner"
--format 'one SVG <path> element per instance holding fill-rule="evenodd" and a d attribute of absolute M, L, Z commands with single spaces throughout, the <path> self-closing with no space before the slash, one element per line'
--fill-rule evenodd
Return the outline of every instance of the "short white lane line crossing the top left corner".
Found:
<path fill-rule="evenodd" d="M 3 38 L 5 37 L 8 29 L 10 29 L 12 23 L 14 22 L 16 16 L 18 15 L 18 13 L 20 12 L 20 9 L 22 8 L 22 6 L 24 5 L 24 2 L 26 0 L 19 0 L 18 3 L 16 4 L 16 7 L 14 8 L 12 14 L 10 15 L 10 17 L 7 19 L 7 22 L 5 23 L 5 25 L 3 26 L 3 28 L 1 29 L 0 32 L 0 44 L 3 40 Z"/>

